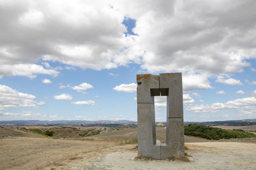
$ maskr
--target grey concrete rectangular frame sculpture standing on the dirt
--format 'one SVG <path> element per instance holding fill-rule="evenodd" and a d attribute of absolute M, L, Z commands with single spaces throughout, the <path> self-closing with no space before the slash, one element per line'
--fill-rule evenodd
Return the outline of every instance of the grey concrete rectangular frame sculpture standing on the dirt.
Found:
<path fill-rule="evenodd" d="M 137 75 L 138 156 L 184 157 L 182 74 Z M 167 96 L 166 143 L 156 144 L 154 96 Z"/>

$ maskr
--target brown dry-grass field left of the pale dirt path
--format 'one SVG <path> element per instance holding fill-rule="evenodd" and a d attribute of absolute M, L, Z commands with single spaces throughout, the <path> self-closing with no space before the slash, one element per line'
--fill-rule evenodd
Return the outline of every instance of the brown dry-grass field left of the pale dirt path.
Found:
<path fill-rule="evenodd" d="M 45 169 L 63 166 L 90 152 L 115 143 L 52 138 L 8 137 L 0 139 L 0 169 Z"/>

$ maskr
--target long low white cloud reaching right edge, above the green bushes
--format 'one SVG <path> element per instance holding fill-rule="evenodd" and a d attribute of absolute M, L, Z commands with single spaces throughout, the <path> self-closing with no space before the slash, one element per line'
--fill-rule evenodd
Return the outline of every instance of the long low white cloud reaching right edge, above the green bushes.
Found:
<path fill-rule="evenodd" d="M 226 103 L 189 105 L 186 110 L 195 112 L 216 112 L 220 110 L 237 110 L 242 114 L 253 114 L 256 111 L 256 97 L 245 97 Z"/>

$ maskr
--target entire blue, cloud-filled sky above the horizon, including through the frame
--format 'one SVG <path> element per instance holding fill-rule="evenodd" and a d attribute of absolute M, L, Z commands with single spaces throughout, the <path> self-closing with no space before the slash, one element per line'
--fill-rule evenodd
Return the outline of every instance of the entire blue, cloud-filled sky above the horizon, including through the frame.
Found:
<path fill-rule="evenodd" d="M 182 73 L 184 121 L 256 118 L 256 1 L 0 0 L 0 120 L 137 120 Z M 155 97 L 156 122 L 166 97 Z"/>

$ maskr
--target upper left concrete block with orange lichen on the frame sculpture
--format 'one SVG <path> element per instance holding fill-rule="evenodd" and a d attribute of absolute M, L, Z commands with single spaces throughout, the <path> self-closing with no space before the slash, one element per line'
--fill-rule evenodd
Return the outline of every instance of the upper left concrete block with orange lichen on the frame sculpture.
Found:
<path fill-rule="evenodd" d="M 154 96 L 160 95 L 159 76 L 152 74 L 139 74 L 137 75 L 137 84 L 137 103 L 154 104 Z"/>

